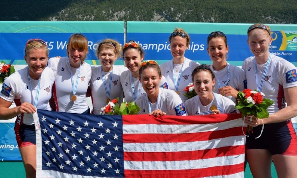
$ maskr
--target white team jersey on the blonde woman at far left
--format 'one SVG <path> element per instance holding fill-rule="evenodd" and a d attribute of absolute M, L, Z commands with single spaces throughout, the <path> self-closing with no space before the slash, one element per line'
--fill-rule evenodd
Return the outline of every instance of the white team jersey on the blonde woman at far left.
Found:
<path fill-rule="evenodd" d="M 30 78 L 31 86 L 27 76 L 27 69 L 20 69 L 11 74 L 4 80 L 0 97 L 6 101 L 12 102 L 14 99 L 19 99 L 20 103 L 28 102 L 34 105 L 36 92 L 39 80 Z M 46 67 L 41 74 L 40 89 L 37 102 L 37 109 L 52 110 L 49 100 L 52 96 L 52 87 L 55 81 L 53 70 Z M 31 114 L 24 114 L 23 123 L 27 125 L 34 124 Z"/>

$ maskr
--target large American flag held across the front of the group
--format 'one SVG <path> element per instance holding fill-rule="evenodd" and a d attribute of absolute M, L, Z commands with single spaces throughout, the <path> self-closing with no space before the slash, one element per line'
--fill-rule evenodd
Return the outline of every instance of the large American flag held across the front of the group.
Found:
<path fill-rule="evenodd" d="M 37 177 L 244 177 L 240 114 L 37 110 Z"/>

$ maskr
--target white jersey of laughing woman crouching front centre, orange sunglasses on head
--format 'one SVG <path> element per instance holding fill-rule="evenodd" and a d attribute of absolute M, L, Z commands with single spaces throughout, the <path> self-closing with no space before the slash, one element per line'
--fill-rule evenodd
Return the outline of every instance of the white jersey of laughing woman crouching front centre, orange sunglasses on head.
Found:
<path fill-rule="evenodd" d="M 147 93 L 139 96 L 135 100 L 135 103 L 140 107 L 140 111 L 137 114 L 149 114 L 156 109 L 161 109 L 162 112 L 166 112 L 166 115 L 186 115 L 184 104 L 181 101 L 181 98 L 173 90 L 159 88 L 157 100 L 157 102 L 151 104 Z M 151 106 L 151 109 L 149 109 L 149 105 Z"/>

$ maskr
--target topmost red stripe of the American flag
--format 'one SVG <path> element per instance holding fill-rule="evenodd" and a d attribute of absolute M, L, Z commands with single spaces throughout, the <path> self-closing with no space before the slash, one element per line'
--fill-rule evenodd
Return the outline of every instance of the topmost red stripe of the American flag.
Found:
<path fill-rule="evenodd" d="M 153 115 L 123 115 L 124 124 L 206 124 L 219 123 L 241 118 L 241 114 L 216 114 L 216 115 L 199 115 L 199 116 L 162 116 L 154 117 Z"/>

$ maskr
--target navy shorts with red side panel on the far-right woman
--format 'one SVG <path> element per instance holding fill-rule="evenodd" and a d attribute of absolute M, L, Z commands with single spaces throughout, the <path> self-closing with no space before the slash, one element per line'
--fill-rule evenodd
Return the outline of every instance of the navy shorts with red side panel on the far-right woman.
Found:
<path fill-rule="evenodd" d="M 253 133 L 246 137 L 247 149 L 269 150 L 271 155 L 297 155 L 297 137 L 291 120 L 281 123 L 265 124 L 260 138 L 262 125 L 253 128 Z"/>

